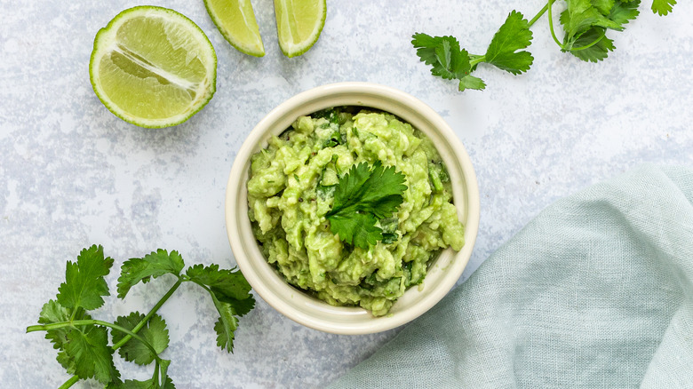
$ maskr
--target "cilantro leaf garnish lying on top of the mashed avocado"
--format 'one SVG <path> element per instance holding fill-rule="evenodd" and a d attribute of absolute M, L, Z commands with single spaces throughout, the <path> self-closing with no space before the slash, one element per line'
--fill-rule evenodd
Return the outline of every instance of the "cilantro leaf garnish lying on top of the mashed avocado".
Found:
<path fill-rule="evenodd" d="M 372 169 L 368 163 L 354 164 L 339 179 L 332 210 L 325 215 L 331 232 L 364 250 L 376 244 L 383 238 L 376 223 L 390 217 L 402 204 L 402 193 L 407 190 L 404 181 L 404 175 L 395 172 L 394 166 L 384 167 L 379 161 Z"/>

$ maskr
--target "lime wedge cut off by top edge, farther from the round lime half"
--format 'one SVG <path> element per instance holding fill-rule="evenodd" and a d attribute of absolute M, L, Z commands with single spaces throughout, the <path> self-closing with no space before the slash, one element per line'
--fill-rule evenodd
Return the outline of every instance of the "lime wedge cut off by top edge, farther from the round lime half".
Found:
<path fill-rule="evenodd" d="M 275 0 L 279 47 L 296 57 L 313 47 L 325 25 L 325 0 Z"/>

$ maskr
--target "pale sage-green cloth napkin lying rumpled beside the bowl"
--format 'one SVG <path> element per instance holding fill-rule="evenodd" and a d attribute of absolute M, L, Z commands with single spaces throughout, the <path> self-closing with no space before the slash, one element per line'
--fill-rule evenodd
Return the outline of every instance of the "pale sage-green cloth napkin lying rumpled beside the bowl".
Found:
<path fill-rule="evenodd" d="M 693 170 L 555 202 L 334 388 L 693 388 Z"/>

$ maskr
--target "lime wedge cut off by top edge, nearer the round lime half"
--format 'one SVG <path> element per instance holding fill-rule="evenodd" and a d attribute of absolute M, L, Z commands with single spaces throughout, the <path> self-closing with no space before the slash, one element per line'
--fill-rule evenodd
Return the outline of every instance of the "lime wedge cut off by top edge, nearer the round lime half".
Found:
<path fill-rule="evenodd" d="M 265 55 L 251 0 L 204 0 L 204 6 L 229 44 L 244 54 Z"/>

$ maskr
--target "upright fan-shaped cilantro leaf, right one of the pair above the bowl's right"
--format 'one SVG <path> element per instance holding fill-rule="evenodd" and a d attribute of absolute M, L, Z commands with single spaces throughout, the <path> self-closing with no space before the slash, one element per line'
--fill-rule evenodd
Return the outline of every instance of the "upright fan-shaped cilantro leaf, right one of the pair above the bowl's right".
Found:
<path fill-rule="evenodd" d="M 510 12 L 505 23 L 498 28 L 498 32 L 491 39 L 484 61 L 519 75 L 529 70 L 534 61 L 530 52 L 518 52 L 529 47 L 531 40 L 530 23 L 522 17 L 522 13 Z"/>

